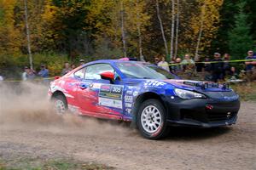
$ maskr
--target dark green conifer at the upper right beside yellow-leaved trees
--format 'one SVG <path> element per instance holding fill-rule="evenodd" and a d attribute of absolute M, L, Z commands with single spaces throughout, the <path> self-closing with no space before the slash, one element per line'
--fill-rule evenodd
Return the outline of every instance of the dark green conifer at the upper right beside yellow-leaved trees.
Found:
<path fill-rule="evenodd" d="M 234 59 L 243 59 L 247 50 L 253 48 L 253 37 L 247 24 L 248 14 L 244 12 L 246 2 L 241 1 L 237 6 L 239 13 L 235 16 L 235 26 L 228 34 L 229 48 Z"/>

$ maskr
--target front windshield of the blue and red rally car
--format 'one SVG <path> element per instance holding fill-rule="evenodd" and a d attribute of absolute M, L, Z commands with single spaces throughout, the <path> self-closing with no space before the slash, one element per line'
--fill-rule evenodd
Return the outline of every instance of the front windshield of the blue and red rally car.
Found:
<path fill-rule="evenodd" d="M 143 79 L 173 79 L 175 78 L 170 72 L 156 67 L 137 62 L 118 62 L 116 65 L 119 70 L 129 78 L 143 78 Z"/>

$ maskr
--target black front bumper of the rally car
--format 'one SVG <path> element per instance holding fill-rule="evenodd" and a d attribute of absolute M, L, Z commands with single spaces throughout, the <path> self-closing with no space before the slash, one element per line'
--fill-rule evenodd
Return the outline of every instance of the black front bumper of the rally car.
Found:
<path fill-rule="evenodd" d="M 221 127 L 236 123 L 240 101 L 166 99 L 167 122 L 172 126 Z"/>

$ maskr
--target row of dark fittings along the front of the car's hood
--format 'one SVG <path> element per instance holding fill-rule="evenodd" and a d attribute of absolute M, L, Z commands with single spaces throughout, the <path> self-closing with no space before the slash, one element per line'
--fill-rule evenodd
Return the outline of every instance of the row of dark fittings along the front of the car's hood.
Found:
<path fill-rule="evenodd" d="M 206 89 L 206 88 L 219 88 L 220 85 L 218 82 L 183 82 L 183 84 L 189 85 L 189 86 L 195 86 L 201 89 Z M 230 84 L 229 83 L 223 83 L 221 84 L 222 89 L 229 89 Z"/>

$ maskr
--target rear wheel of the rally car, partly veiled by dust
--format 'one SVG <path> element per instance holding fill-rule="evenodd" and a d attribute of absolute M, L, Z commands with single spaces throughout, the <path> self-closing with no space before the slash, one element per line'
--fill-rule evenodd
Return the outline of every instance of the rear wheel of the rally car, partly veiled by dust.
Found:
<path fill-rule="evenodd" d="M 57 94 L 56 96 L 53 97 L 52 100 L 53 100 L 55 112 L 58 115 L 64 115 L 67 113 L 67 99 L 64 95 Z"/>

